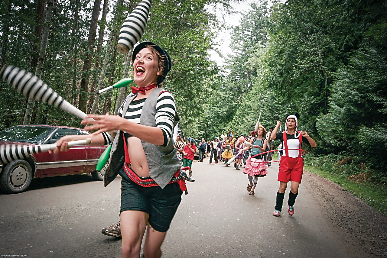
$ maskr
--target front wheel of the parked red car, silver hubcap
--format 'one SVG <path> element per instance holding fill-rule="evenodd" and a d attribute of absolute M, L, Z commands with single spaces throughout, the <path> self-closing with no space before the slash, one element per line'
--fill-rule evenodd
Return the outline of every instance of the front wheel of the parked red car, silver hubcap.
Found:
<path fill-rule="evenodd" d="M 31 184 L 32 177 L 32 168 L 27 161 L 23 159 L 12 161 L 3 167 L 0 188 L 5 193 L 24 192 Z"/>

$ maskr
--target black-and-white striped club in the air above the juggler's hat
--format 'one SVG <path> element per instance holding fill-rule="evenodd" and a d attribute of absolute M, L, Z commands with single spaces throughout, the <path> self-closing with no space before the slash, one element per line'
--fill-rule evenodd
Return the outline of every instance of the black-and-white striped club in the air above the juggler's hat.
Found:
<path fill-rule="evenodd" d="M 151 5 L 152 0 L 142 0 L 123 22 L 117 43 L 120 52 L 128 53 L 140 40 L 145 31 Z"/>

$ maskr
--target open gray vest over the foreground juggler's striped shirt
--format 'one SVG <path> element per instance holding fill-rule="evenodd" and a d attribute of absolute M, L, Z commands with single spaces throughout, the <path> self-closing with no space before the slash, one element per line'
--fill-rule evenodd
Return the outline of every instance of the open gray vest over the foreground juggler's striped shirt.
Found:
<path fill-rule="evenodd" d="M 156 103 L 160 92 L 164 91 L 161 88 L 155 88 L 151 94 L 147 97 L 142 107 L 140 124 L 147 126 L 156 126 Z M 123 107 L 123 114 L 125 116 L 126 110 L 128 110 L 129 104 L 135 96 L 128 99 L 127 103 Z M 176 114 L 173 127 L 177 124 L 179 118 Z M 122 168 L 125 162 L 125 154 L 123 149 L 123 133 L 118 131 L 114 138 L 113 145 L 110 150 L 110 157 L 108 162 L 102 168 L 101 172 L 104 172 L 104 185 L 105 187 L 113 181 L 118 171 Z M 167 146 L 158 146 L 144 142 L 141 140 L 142 148 L 144 149 L 149 174 L 151 178 L 161 187 L 164 188 L 170 181 L 172 176 L 182 166 L 175 151 L 174 142 L 170 139 Z"/>

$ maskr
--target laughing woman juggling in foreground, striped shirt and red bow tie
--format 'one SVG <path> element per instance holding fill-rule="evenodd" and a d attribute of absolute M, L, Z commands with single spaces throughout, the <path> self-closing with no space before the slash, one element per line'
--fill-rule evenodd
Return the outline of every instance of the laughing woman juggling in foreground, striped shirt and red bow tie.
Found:
<path fill-rule="evenodd" d="M 132 54 L 134 82 L 119 109 L 119 116 L 89 115 L 82 120 L 92 134 L 92 145 L 107 144 L 115 133 L 104 184 L 118 174 L 121 181 L 120 226 L 122 257 L 139 257 L 142 239 L 145 257 L 160 257 L 161 244 L 186 190 L 181 163 L 172 139 L 179 118 L 175 100 L 161 83 L 171 68 L 168 53 L 152 42 L 138 44 Z M 67 142 L 90 137 L 69 135 L 58 140 L 55 152 L 66 151 Z"/>

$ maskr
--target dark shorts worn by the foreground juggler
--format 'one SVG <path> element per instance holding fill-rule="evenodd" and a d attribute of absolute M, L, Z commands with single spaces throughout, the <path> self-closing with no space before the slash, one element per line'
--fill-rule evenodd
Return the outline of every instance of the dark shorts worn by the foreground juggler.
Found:
<path fill-rule="evenodd" d="M 160 186 L 140 186 L 134 183 L 123 169 L 119 171 L 121 180 L 121 212 L 140 210 L 149 214 L 149 224 L 159 232 L 166 232 L 177 207 L 182 201 L 182 190 L 177 182 Z"/>

